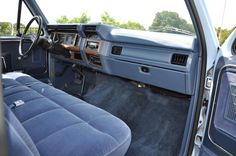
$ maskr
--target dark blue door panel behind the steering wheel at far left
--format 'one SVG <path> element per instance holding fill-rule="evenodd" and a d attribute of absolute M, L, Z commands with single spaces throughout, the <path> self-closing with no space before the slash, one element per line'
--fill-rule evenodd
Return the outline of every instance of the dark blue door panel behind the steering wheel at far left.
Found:
<path fill-rule="evenodd" d="M 32 49 L 27 58 L 19 59 L 19 38 L 2 38 L 2 53 L 5 56 L 6 72 L 23 71 L 35 77 L 41 77 L 47 73 L 47 53 L 41 47 Z"/>

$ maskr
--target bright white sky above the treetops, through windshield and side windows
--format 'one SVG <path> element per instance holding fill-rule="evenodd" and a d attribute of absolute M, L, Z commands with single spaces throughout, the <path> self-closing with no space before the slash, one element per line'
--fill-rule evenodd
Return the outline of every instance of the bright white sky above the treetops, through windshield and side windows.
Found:
<path fill-rule="evenodd" d="M 78 17 L 87 12 L 92 22 L 100 22 L 103 12 L 121 23 L 135 21 L 148 28 L 157 12 L 175 11 L 191 23 L 184 0 L 36 0 L 50 23 L 60 16 Z M 65 3 L 66 2 L 66 3 Z M 226 2 L 226 5 L 224 5 Z M 232 28 L 236 26 L 236 0 L 205 0 L 209 15 L 215 27 Z M 0 5 L 0 21 L 15 23 L 18 0 L 4 1 Z M 225 7 L 222 22 L 223 10 Z M 30 20 L 29 13 L 23 13 L 24 21 Z"/>

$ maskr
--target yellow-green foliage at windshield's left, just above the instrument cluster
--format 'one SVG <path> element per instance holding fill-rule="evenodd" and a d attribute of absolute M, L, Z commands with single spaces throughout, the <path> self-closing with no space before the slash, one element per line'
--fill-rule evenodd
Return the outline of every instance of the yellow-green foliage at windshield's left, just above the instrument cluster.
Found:
<path fill-rule="evenodd" d="M 56 20 L 57 23 L 88 23 L 89 21 L 90 17 L 86 12 L 82 13 L 80 17 L 69 19 L 67 16 L 61 16 Z"/>

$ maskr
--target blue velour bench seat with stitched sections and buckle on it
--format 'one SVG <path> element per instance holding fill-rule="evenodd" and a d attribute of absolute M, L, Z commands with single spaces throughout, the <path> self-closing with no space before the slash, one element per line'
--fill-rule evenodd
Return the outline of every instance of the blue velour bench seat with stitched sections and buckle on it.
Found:
<path fill-rule="evenodd" d="M 17 136 L 8 135 L 10 155 L 118 156 L 130 145 L 123 121 L 30 76 L 3 78 L 3 93 L 6 107 L 24 102 L 6 108 L 8 129 Z"/>

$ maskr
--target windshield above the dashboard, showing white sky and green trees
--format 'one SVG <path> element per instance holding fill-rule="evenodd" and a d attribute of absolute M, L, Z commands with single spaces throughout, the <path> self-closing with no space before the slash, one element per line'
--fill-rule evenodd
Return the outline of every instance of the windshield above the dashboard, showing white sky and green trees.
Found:
<path fill-rule="evenodd" d="M 184 0 L 36 0 L 49 24 L 103 23 L 194 35 Z"/>

